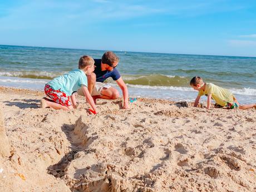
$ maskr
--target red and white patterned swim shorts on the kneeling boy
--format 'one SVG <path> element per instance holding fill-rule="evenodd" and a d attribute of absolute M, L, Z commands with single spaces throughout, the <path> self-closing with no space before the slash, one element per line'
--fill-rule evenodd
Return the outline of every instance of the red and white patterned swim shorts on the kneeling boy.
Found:
<path fill-rule="evenodd" d="M 57 104 L 61 104 L 63 106 L 71 106 L 70 98 L 66 95 L 65 92 L 60 90 L 54 90 L 50 85 L 45 85 L 45 94 L 50 97 Z"/>

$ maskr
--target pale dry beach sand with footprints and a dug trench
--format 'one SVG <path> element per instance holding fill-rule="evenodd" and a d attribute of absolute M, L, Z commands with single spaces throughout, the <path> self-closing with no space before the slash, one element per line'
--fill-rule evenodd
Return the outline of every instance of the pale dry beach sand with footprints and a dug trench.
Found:
<path fill-rule="evenodd" d="M 42 92 L 0 88 L 11 156 L 1 191 L 256 191 L 256 110 L 99 100 L 97 115 L 40 109 Z"/>

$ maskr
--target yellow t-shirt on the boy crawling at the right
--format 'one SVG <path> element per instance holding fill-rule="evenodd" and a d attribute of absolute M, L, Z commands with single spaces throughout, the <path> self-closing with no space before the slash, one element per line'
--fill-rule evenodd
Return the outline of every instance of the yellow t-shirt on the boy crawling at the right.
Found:
<path fill-rule="evenodd" d="M 221 106 L 226 106 L 227 102 L 229 102 L 230 104 L 234 103 L 234 95 L 226 88 L 216 86 L 213 83 L 205 84 L 205 91 L 201 89 L 198 93 L 199 96 L 211 94 L 211 97 L 215 100 L 216 104 L 219 104 Z"/>

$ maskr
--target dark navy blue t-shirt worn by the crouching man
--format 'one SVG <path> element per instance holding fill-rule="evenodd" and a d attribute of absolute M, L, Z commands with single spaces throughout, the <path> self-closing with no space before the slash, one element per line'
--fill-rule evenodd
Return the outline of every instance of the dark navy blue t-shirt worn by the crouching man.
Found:
<path fill-rule="evenodd" d="M 101 60 L 100 59 L 95 59 L 94 61 L 95 61 L 94 65 L 96 66 L 95 70 L 94 70 L 94 73 L 96 74 L 96 81 L 97 82 L 104 82 L 109 77 L 112 77 L 112 79 L 114 81 L 116 81 L 121 77 L 117 68 L 114 68 L 113 71 L 107 71 L 107 70 L 106 71 L 101 71 Z"/>

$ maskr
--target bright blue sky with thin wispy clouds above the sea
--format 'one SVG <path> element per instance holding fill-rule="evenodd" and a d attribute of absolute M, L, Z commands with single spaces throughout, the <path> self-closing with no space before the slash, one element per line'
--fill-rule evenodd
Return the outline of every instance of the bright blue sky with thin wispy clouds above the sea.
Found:
<path fill-rule="evenodd" d="M 256 57 L 256 1 L 0 0 L 0 45 Z"/>

